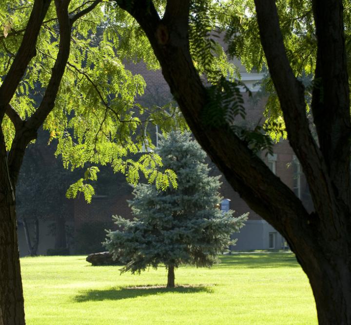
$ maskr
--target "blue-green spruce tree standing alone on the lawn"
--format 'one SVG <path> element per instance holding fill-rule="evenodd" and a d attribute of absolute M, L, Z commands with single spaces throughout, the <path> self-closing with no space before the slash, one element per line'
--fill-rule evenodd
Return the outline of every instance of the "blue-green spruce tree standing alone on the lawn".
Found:
<path fill-rule="evenodd" d="M 131 200 L 134 221 L 114 216 L 120 228 L 109 232 L 105 246 L 132 273 L 164 263 L 167 287 L 175 286 L 174 270 L 180 264 L 211 266 L 216 255 L 231 243 L 230 235 L 243 226 L 247 214 L 234 218 L 234 211 L 218 209 L 219 176 L 209 177 L 206 154 L 189 133 L 172 131 L 158 150 L 165 172 L 177 174 L 177 188 L 166 190 L 139 184 Z"/>

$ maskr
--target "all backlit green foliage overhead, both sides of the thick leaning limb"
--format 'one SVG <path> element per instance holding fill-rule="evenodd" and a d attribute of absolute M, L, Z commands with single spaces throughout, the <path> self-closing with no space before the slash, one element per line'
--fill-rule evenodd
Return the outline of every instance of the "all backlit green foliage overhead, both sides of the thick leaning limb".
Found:
<path fill-rule="evenodd" d="M 154 1 L 161 16 L 165 2 Z M 140 74 L 126 70 L 124 63 L 142 60 L 149 69 L 158 69 L 159 65 L 143 30 L 117 3 L 101 0 L 95 9 L 74 23 L 70 56 L 55 108 L 43 127 L 50 133 L 49 142 L 57 141 L 56 154 L 62 157 L 66 168 L 85 167 L 87 163 L 89 166 L 110 164 L 115 172 L 125 173 L 130 183 L 137 183 L 139 172 L 142 172 L 151 181 L 156 181 L 158 187 L 166 188 L 176 179 L 168 171 L 155 174 L 155 167 L 162 164 L 156 154 L 139 155 L 137 160 L 131 159 L 131 155 L 140 152 L 143 143 L 153 146 L 150 134 L 145 132 L 148 123 L 161 125 L 163 132 L 175 125 L 186 126 L 172 105 L 160 108 L 137 104 L 136 98 L 144 93 L 146 84 Z M 72 0 L 69 12 L 74 15 L 88 4 L 89 1 Z M 350 7 L 348 1 L 344 5 Z M 316 51 L 311 3 L 281 0 L 277 6 L 292 69 L 311 83 L 312 78 L 308 76 L 314 71 Z M 1 75 L 9 71 L 31 9 L 32 5 L 23 5 L 20 0 L 1 1 Z M 351 19 L 348 19 L 347 10 L 345 13 L 348 40 Z M 263 81 L 262 88 L 270 94 L 264 127 L 248 129 L 238 125 L 237 116 L 245 118 L 239 91 L 242 84 L 234 80 L 240 80 L 240 73 L 222 47 L 224 34 L 228 53 L 240 58 L 248 71 L 265 70 L 252 0 L 192 1 L 190 52 L 198 72 L 212 84 L 208 88 L 208 105 L 203 118 L 209 127 L 229 127 L 254 151 L 271 150 L 272 144 L 265 132 L 275 141 L 286 137 L 272 81 L 269 75 Z M 55 6 L 51 3 L 40 30 L 36 56 L 11 101 L 22 119 L 32 116 L 39 106 L 57 57 L 59 37 Z M 346 44 L 349 51 L 351 42 Z M 310 88 L 306 90 L 308 96 Z M 1 127 L 9 150 L 15 136 L 14 126 L 5 116 Z M 68 196 L 83 191 L 90 200 L 94 189 L 87 184 L 88 180 L 92 178 L 80 179 L 70 188 Z"/>

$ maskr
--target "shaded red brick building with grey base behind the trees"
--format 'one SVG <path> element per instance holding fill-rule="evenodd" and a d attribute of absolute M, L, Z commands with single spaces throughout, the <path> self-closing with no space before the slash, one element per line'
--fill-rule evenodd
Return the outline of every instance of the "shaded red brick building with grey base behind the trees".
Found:
<path fill-rule="evenodd" d="M 247 73 L 238 61 L 235 62 L 240 67 L 242 81 L 252 91 L 253 99 L 248 98 L 246 93 L 246 123 L 250 126 L 257 125 L 262 118 L 262 111 L 265 99 L 255 96 L 258 93 L 259 86 L 257 82 L 262 78 L 260 73 Z M 162 106 L 172 100 L 168 84 L 164 80 L 160 71 L 147 70 L 145 65 L 127 64 L 127 69 L 141 74 L 147 84 L 143 96 L 137 98 L 137 101 L 144 105 Z M 156 128 L 149 126 L 150 134 L 156 135 Z M 156 139 L 156 136 L 155 136 Z M 42 150 L 46 150 L 42 148 Z M 52 153 L 51 153 L 52 155 Z M 53 157 L 52 157 L 53 158 Z M 267 163 L 270 169 L 285 182 L 294 193 L 302 199 L 308 210 L 312 210 L 309 190 L 304 176 L 300 170 L 297 160 L 294 158 L 293 151 L 288 141 L 281 141 L 273 147 L 273 155 L 264 155 L 261 158 Z M 210 162 L 213 175 L 219 174 L 215 165 Z M 88 253 L 90 252 L 90 241 L 95 241 L 95 249 L 103 250 L 101 242 L 104 240 L 104 229 L 114 229 L 112 215 L 119 215 L 130 218 L 131 210 L 127 200 L 133 199 L 133 188 L 126 183 L 123 175 L 114 174 L 111 169 L 102 168 L 103 172 L 99 175 L 96 193 L 91 204 L 87 204 L 82 196 L 71 200 L 72 208 L 69 210 L 69 216 L 66 216 L 66 225 L 74 227 L 73 246 L 71 253 Z M 103 180 L 103 177 L 105 181 Z M 107 179 L 107 181 L 106 181 Z M 240 216 L 243 213 L 250 212 L 249 218 L 240 233 L 234 234 L 238 241 L 233 250 L 259 250 L 259 249 L 281 249 L 287 246 L 284 238 L 269 224 L 252 211 L 247 204 L 240 199 L 239 195 L 234 192 L 224 177 L 221 181 L 221 195 L 224 200 L 222 209 L 235 210 L 234 216 Z M 55 214 L 55 213 L 54 213 Z M 40 221 L 40 243 L 39 254 L 45 254 L 47 249 L 54 247 L 54 237 L 48 233 L 48 226 L 51 220 Z M 85 235 L 85 239 L 81 239 Z M 85 241 L 85 248 L 79 248 L 80 241 Z M 27 254 L 23 227 L 19 223 L 19 242 L 21 256 Z M 94 250 L 95 250 L 94 249 Z"/>

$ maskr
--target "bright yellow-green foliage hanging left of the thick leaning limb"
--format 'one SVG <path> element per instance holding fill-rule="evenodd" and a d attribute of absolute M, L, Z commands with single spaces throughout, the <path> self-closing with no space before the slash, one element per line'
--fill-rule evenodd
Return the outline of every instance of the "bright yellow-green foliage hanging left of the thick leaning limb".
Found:
<path fill-rule="evenodd" d="M 70 15 L 90 2 L 72 0 Z M 1 75 L 6 75 L 11 67 L 31 10 L 32 5 L 23 5 L 22 1 L 1 1 Z M 10 102 L 23 120 L 31 117 L 42 101 L 57 59 L 59 38 L 52 1 L 40 29 L 36 55 Z M 91 200 L 94 189 L 88 181 L 97 177 L 95 165 L 111 165 L 115 172 L 126 174 L 130 183 L 137 183 L 142 172 L 147 178 L 151 176 L 157 187 L 165 188 L 170 182 L 176 186 L 174 173 L 155 174 L 155 166 L 162 164 L 156 154 L 138 154 L 144 143 L 153 148 L 147 124 L 160 124 L 162 131 L 175 124 L 186 127 L 171 104 L 162 108 L 137 104 L 136 98 L 144 93 L 146 84 L 140 74 L 126 70 L 124 62 L 139 61 L 141 57 L 149 68 L 158 68 L 147 38 L 134 19 L 121 9 L 112 8 L 109 1 L 102 0 L 73 24 L 69 59 L 55 107 L 43 124 L 50 134 L 49 143 L 57 143 L 56 155 L 61 156 L 66 168 L 90 166 L 84 177 L 70 187 L 68 197 L 81 191 Z M 5 115 L 1 127 L 9 151 L 15 126 Z M 135 154 L 137 158 L 131 159 Z"/>

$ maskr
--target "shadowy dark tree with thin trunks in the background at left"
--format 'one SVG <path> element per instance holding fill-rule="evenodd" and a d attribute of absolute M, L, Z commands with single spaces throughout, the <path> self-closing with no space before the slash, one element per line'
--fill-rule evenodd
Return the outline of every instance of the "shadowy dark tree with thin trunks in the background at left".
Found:
<path fill-rule="evenodd" d="M 17 217 L 23 224 L 28 253 L 37 255 L 39 221 L 52 221 L 50 234 L 55 236 L 55 250 L 68 251 L 67 217 L 71 205 L 65 197 L 77 172 L 64 169 L 55 159 L 54 144 L 47 145 L 47 132 L 38 132 L 35 144 L 30 144 L 20 169 L 17 183 Z M 47 234 L 45 234 L 47 235 Z"/>

